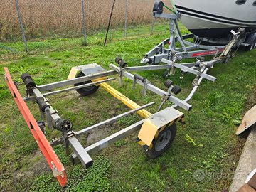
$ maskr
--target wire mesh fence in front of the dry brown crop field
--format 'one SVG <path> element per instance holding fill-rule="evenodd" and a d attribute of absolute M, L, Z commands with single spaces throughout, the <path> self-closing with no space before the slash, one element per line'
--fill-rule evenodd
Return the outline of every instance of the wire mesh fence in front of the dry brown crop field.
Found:
<path fill-rule="evenodd" d="M 92 35 L 107 29 L 113 2 L 114 0 L 1 0 L 0 42 L 23 41 L 23 37 L 26 41 L 43 41 Z M 170 1 L 164 1 L 164 4 L 171 7 Z M 152 23 L 153 6 L 154 0 L 115 0 L 110 28 L 124 28 L 125 23 L 126 28 Z M 23 36 L 19 19 L 22 21 Z"/>

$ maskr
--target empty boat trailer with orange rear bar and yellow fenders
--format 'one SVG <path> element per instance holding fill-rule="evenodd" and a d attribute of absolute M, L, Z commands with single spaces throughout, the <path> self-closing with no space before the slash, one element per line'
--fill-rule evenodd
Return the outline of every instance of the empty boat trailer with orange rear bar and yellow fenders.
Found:
<path fill-rule="evenodd" d="M 127 137 L 129 134 L 139 130 L 137 142 L 143 147 L 146 155 L 151 158 L 156 158 L 157 156 L 163 154 L 174 140 L 176 135 L 176 122 L 181 122 L 183 127 L 186 127 L 184 114 L 178 111 L 178 109 L 183 108 L 187 111 L 192 109 L 192 106 L 188 102 L 190 102 L 203 78 L 213 82 L 217 80 L 217 78 L 207 74 L 208 70 L 213 68 L 213 65 L 216 63 L 227 62 L 234 56 L 233 54 L 230 55 L 231 48 L 233 48 L 233 46 L 240 40 L 242 31 L 243 30 L 240 29 L 238 33 L 233 32 L 233 40 L 230 41 L 228 46 L 223 48 L 222 53 L 219 56 L 218 53 L 220 53 L 220 50 L 214 50 L 215 56 L 213 60 L 210 61 L 204 61 L 203 57 L 199 57 L 199 55 L 204 52 L 198 50 L 198 52 L 193 53 L 198 54 L 195 63 L 178 64 L 177 62 L 183 59 L 182 56 L 185 55 L 185 58 L 187 58 L 187 53 L 184 53 L 184 51 L 182 53 L 177 52 L 177 50 L 174 48 L 166 52 L 164 48 L 157 47 L 154 51 L 161 49 L 162 52 L 160 54 L 162 57 L 156 55 L 154 56 L 155 59 L 152 59 L 152 61 L 153 63 L 162 62 L 165 63 L 165 65 L 127 67 L 127 63 L 124 60 L 121 58 L 116 58 L 115 62 L 118 64 L 118 66 L 110 64 L 109 67 L 112 70 L 107 71 L 96 63 L 81 65 L 78 67 L 73 67 L 70 70 L 68 80 L 53 82 L 47 85 L 36 85 L 31 75 L 28 73 L 23 73 L 21 75 L 21 80 L 26 85 L 26 97 L 21 97 L 21 94 L 18 91 L 18 85 L 11 79 L 8 68 L 4 68 L 6 73 L 5 80 L 9 86 L 11 94 L 14 97 L 14 100 L 21 110 L 24 119 L 26 120 L 26 123 L 28 124 L 29 129 L 33 134 L 33 137 L 36 139 L 38 146 L 43 152 L 43 155 L 46 157 L 46 160 L 48 161 L 48 164 L 53 171 L 53 175 L 58 179 L 60 186 L 65 187 L 67 184 L 65 168 L 52 148 L 58 144 L 64 147 L 66 155 L 70 154 L 69 146 L 71 146 L 74 152 L 71 156 L 73 164 L 78 164 L 81 162 L 85 168 L 88 168 L 92 166 L 92 158 L 90 157 L 92 154 L 105 149 L 107 146 L 110 146 L 110 144 L 114 144 L 114 142 L 119 141 L 119 139 Z M 172 43 L 174 43 L 174 41 L 171 41 L 169 46 L 171 46 Z M 208 50 L 209 55 L 213 54 L 212 51 L 213 50 Z M 144 60 L 147 60 L 147 62 L 150 61 L 149 57 L 144 58 Z M 196 75 L 196 78 L 193 80 L 193 89 L 185 100 L 180 100 L 175 96 L 181 92 L 181 87 L 174 85 L 174 82 L 172 82 L 170 79 L 167 79 L 164 82 L 164 86 L 167 88 L 167 91 L 164 91 L 152 85 L 148 79 L 138 75 L 137 73 L 134 75 L 129 73 L 132 71 L 166 69 L 166 71 L 170 71 L 170 75 L 174 75 L 176 68 L 180 68 L 182 73 L 192 73 Z M 119 76 L 119 87 L 122 87 L 122 77 L 126 77 L 133 81 L 133 89 L 137 84 L 142 85 L 142 95 L 146 95 L 146 90 L 151 90 L 152 92 L 159 95 L 161 97 L 161 104 L 159 105 L 158 112 L 151 114 L 145 110 L 146 107 L 154 105 L 155 102 L 139 106 L 137 103 L 129 100 L 129 98 L 123 95 L 121 92 L 118 92 L 113 87 L 108 85 L 108 81 L 115 80 L 115 78 L 109 78 L 112 75 Z M 75 86 L 70 87 L 70 85 Z M 104 90 L 107 90 L 107 92 L 110 92 L 110 94 L 112 94 L 114 97 L 117 97 L 118 100 L 121 100 L 132 110 L 129 110 L 124 114 L 119 114 L 117 117 L 107 119 L 104 122 L 100 122 L 99 124 L 94 124 L 91 127 L 77 131 L 73 129 L 73 123 L 69 119 L 63 119 L 58 115 L 58 111 L 53 109 L 53 107 L 50 105 L 50 100 L 46 98 L 50 95 L 55 95 L 61 92 L 68 92 L 71 90 L 77 90 L 80 95 L 87 96 L 96 92 L 99 86 Z M 62 90 L 56 90 L 61 87 L 66 88 Z M 29 101 L 36 101 L 41 113 L 41 118 L 46 119 L 48 129 L 57 129 L 60 131 L 60 138 L 54 138 L 48 142 L 48 139 L 44 134 L 45 122 L 36 121 L 36 119 L 31 114 L 31 111 L 28 109 L 28 106 L 26 105 L 26 102 Z M 166 101 L 173 102 L 174 105 L 161 110 Z M 142 117 L 144 117 L 144 119 L 110 135 L 105 139 L 100 140 L 99 142 L 96 142 L 95 144 L 84 148 L 77 139 L 78 136 L 90 132 L 92 129 L 110 124 L 111 122 L 117 121 L 118 119 L 126 117 L 134 112 L 139 113 Z"/>

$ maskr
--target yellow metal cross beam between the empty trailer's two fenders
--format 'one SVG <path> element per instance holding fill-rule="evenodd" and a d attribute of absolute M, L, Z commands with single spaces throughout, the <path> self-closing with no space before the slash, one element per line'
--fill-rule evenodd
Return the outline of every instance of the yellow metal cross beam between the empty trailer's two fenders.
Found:
<path fill-rule="evenodd" d="M 107 90 L 107 92 L 110 92 L 111 95 L 113 95 L 114 97 L 117 97 L 118 100 L 121 100 L 125 105 L 127 105 L 128 107 L 130 107 L 132 110 L 140 107 L 136 102 L 133 102 L 132 100 L 130 100 L 128 97 L 122 95 L 121 92 L 118 92 L 117 90 L 115 90 L 113 87 L 111 87 L 110 85 L 108 85 L 106 82 L 102 82 L 100 83 L 100 87 L 102 87 L 103 89 Z M 137 113 L 139 113 L 140 115 L 142 115 L 142 117 L 146 118 L 151 116 L 152 114 L 150 112 L 148 112 L 147 110 L 140 110 Z"/>

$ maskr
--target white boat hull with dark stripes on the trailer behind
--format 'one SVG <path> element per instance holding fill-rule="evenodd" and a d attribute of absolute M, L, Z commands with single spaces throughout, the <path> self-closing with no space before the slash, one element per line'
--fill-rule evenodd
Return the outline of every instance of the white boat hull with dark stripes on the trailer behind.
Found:
<path fill-rule="evenodd" d="M 191 33 L 201 37 L 225 36 L 239 27 L 256 28 L 256 2 L 247 0 L 173 0 L 181 12 L 181 22 Z M 255 3 L 255 5 L 254 5 Z"/>

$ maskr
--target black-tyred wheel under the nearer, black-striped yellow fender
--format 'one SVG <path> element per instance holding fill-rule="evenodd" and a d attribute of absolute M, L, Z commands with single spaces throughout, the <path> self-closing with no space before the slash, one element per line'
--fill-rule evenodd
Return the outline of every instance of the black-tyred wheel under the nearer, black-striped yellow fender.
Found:
<path fill-rule="evenodd" d="M 144 153 L 152 159 L 163 154 L 174 141 L 176 131 L 176 124 L 172 124 L 163 131 L 159 132 L 158 137 L 156 137 L 156 139 L 152 142 L 152 148 L 148 149 L 147 151 L 143 149 Z"/>

